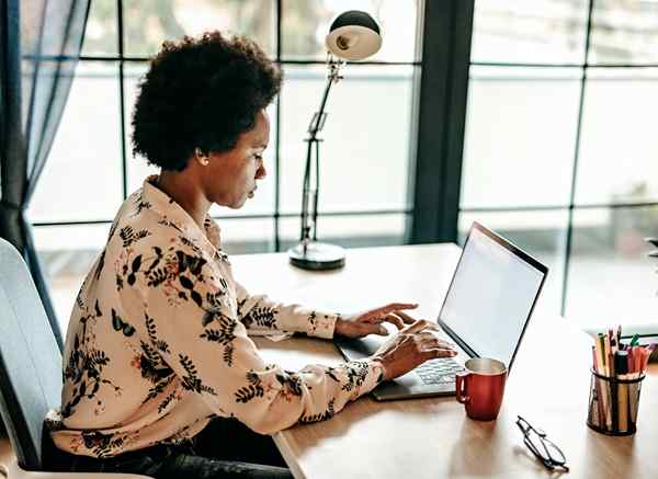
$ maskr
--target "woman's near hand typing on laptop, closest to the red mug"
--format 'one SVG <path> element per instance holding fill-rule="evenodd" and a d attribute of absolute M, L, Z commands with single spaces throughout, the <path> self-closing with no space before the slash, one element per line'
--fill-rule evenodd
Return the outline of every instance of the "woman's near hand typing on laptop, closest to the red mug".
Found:
<path fill-rule="evenodd" d="M 431 323 L 419 319 L 386 341 L 372 356 L 384 366 L 384 379 L 390 380 L 435 357 L 452 357 L 454 346 L 428 331 Z"/>

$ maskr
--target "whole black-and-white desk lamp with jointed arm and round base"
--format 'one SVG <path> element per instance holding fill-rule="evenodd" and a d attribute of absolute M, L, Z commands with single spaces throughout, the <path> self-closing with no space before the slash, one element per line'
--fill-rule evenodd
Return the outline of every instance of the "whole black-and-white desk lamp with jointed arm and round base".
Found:
<path fill-rule="evenodd" d="M 322 141 L 317 135 L 327 119 L 325 106 L 331 84 L 342 79 L 339 75 L 340 68 L 348 60 L 362 60 L 377 53 L 382 46 L 379 25 L 371 15 L 359 10 L 341 13 L 331 24 L 325 45 L 328 50 L 329 70 L 327 87 L 320 109 L 308 124 L 308 138 L 305 139 L 307 148 L 302 194 L 300 242 L 288 250 L 291 263 L 304 270 L 333 270 L 345 264 L 345 252 L 342 248 L 317 241 L 320 141 Z"/>

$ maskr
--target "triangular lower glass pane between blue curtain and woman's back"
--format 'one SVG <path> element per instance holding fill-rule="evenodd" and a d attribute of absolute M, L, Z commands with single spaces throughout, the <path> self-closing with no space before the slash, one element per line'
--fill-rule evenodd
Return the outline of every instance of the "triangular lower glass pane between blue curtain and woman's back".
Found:
<path fill-rule="evenodd" d="M 63 333 L 82 281 L 105 247 L 110 226 L 107 223 L 34 228 L 36 252 L 49 276 L 50 296 Z"/>

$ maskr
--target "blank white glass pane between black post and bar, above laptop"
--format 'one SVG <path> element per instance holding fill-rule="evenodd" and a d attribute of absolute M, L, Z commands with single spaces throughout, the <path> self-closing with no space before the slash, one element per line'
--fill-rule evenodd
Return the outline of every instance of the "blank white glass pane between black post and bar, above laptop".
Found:
<path fill-rule="evenodd" d="M 462 207 L 568 204 L 578 75 L 574 69 L 472 67 Z"/>

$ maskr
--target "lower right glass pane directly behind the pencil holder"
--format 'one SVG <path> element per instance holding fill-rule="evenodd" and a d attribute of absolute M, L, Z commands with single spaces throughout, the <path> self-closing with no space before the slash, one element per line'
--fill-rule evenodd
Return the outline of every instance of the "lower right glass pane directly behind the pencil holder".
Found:
<path fill-rule="evenodd" d="M 574 212 L 566 317 L 583 328 L 656 324 L 658 207 Z M 655 329 L 655 328 L 654 328 Z"/>

